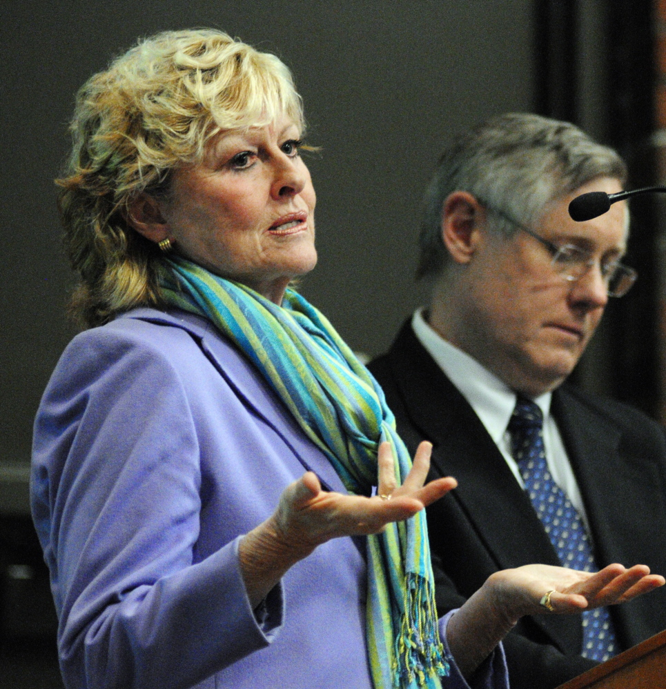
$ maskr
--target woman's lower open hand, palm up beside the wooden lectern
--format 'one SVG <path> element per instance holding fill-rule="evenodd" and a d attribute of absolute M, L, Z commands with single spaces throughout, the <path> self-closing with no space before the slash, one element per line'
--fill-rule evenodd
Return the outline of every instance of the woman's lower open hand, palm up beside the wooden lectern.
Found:
<path fill-rule="evenodd" d="M 614 564 L 594 573 L 550 565 L 502 570 L 488 577 L 453 615 L 447 641 L 460 672 L 469 677 L 524 615 L 611 606 L 664 583 L 664 577 L 651 575 L 645 565 L 627 569 Z M 553 610 L 547 607 L 547 601 Z"/>

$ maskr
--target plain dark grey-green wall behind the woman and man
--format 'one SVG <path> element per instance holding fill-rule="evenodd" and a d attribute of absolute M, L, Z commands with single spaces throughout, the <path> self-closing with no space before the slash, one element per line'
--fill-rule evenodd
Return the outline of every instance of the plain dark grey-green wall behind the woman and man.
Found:
<path fill-rule="evenodd" d="M 0 12 L 6 472 L 28 462 L 32 417 L 73 332 L 63 316 L 71 282 L 52 183 L 68 150 L 73 97 L 138 36 L 214 26 L 292 68 L 308 141 L 322 147 L 308 160 L 320 265 L 302 290 L 369 355 L 388 346 L 424 296 L 412 279 L 415 237 L 438 154 L 480 119 L 533 102 L 529 0 L 10 0 Z"/>

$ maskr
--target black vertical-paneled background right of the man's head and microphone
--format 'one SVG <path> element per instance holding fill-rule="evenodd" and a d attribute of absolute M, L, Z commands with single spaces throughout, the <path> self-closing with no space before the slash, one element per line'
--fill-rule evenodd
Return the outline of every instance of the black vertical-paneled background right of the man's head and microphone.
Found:
<path fill-rule="evenodd" d="M 627 161 L 627 188 L 663 183 L 655 117 L 658 103 L 666 103 L 656 98 L 655 74 L 656 14 L 663 7 L 652 0 L 534 3 L 535 112 L 574 122 L 616 148 Z M 638 269 L 638 283 L 627 297 L 609 301 L 571 378 L 665 421 L 665 244 L 657 201 L 652 195 L 629 203 L 626 260 Z"/>

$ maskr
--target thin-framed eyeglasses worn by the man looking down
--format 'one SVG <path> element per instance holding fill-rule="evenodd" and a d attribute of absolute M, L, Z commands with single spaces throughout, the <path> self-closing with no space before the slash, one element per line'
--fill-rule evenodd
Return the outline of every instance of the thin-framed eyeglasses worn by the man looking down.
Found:
<path fill-rule="evenodd" d="M 530 237 L 533 237 L 540 243 L 542 243 L 543 246 L 545 246 L 549 253 L 551 254 L 551 268 L 554 269 L 554 271 L 561 275 L 565 280 L 568 282 L 576 282 L 577 280 L 580 280 L 580 278 L 584 277 L 591 268 L 594 267 L 594 264 L 596 263 L 596 260 L 592 257 L 593 252 L 589 251 L 588 249 L 583 249 L 580 246 L 576 246 L 576 244 L 562 244 L 562 246 L 558 246 L 556 243 L 553 241 L 550 241 L 549 239 L 545 239 L 545 237 L 541 237 L 540 234 L 537 234 L 534 232 L 534 230 L 531 230 L 527 226 L 523 225 L 522 223 L 518 222 L 516 219 L 513 219 L 508 213 L 504 212 L 503 210 L 500 210 L 499 208 L 493 208 L 489 203 L 484 203 L 483 201 L 480 201 L 477 199 L 481 206 L 485 208 L 486 210 L 489 210 L 491 213 L 494 213 L 501 217 L 502 219 L 505 219 L 508 223 L 511 223 L 511 225 L 516 226 L 519 230 L 522 230 L 523 232 L 526 232 L 529 234 Z M 576 252 L 578 256 L 580 257 L 579 259 L 571 259 L 571 254 L 569 253 L 569 261 L 566 264 L 560 263 L 558 266 L 558 260 L 562 256 L 567 256 L 567 252 Z M 587 257 L 584 259 L 583 257 Z M 567 270 L 567 267 L 573 268 L 574 270 L 578 270 L 577 266 L 580 266 L 581 268 L 584 268 L 580 274 L 566 274 L 565 270 Z M 620 261 L 611 261 L 610 263 L 601 263 L 599 262 L 599 269 L 601 272 L 601 277 L 603 281 L 605 282 L 606 285 L 606 293 L 608 294 L 609 297 L 615 297 L 616 299 L 619 299 L 620 297 L 624 297 L 627 292 L 631 289 L 632 286 L 634 286 L 634 283 L 636 282 L 636 279 L 638 278 L 638 272 L 634 270 L 634 268 L 631 268 L 630 266 L 625 266 L 624 263 L 620 263 Z M 621 276 L 624 276 L 626 280 L 628 280 L 627 288 L 624 290 L 621 290 L 620 293 L 618 294 L 618 290 L 612 290 L 610 287 L 610 282 L 614 278 L 618 277 L 618 274 Z"/>

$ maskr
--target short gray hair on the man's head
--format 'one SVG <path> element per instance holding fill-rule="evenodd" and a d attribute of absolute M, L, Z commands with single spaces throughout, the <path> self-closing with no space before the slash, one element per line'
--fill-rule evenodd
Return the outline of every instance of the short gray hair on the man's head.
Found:
<path fill-rule="evenodd" d="M 442 241 L 442 206 L 454 191 L 466 191 L 487 206 L 487 227 L 513 234 L 502 214 L 527 226 L 545 206 L 598 177 L 627 178 L 627 166 L 568 122 L 509 112 L 480 124 L 444 152 L 423 201 L 416 277 L 442 271 L 449 254 Z"/>

